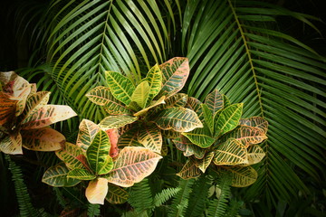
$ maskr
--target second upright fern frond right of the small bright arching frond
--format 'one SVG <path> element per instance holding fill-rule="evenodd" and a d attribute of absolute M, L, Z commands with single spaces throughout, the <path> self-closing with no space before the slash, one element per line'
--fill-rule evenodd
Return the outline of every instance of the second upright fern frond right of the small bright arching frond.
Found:
<path fill-rule="evenodd" d="M 197 217 L 203 215 L 206 210 L 206 201 L 208 189 L 211 186 L 206 176 L 200 176 L 192 187 L 190 193 L 189 205 L 187 208 L 187 217 Z"/>

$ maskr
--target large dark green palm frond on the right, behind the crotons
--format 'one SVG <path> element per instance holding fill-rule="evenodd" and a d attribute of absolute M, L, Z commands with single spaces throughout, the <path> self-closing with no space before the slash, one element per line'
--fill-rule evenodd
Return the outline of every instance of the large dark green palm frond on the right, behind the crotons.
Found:
<path fill-rule="evenodd" d="M 254 1 L 196 3 L 188 3 L 183 20 L 182 43 L 193 72 L 188 93 L 204 99 L 221 90 L 245 103 L 245 117 L 270 123 L 259 180 L 245 197 L 264 193 L 269 200 L 290 200 L 299 190 L 308 193 L 295 168 L 316 180 L 325 175 L 326 64 L 273 26 L 280 14 L 307 24 L 312 17 Z"/>

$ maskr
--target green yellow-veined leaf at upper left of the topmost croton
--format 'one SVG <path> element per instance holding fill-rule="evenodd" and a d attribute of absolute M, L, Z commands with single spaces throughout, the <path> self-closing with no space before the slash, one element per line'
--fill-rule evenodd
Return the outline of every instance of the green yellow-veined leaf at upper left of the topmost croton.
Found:
<path fill-rule="evenodd" d="M 106 71 L 105 74 L 113 97 L 125 105 L 129 105 L 131 95 L 135 90 L 135 86 L 131 80 L 115 71 Z"/>

